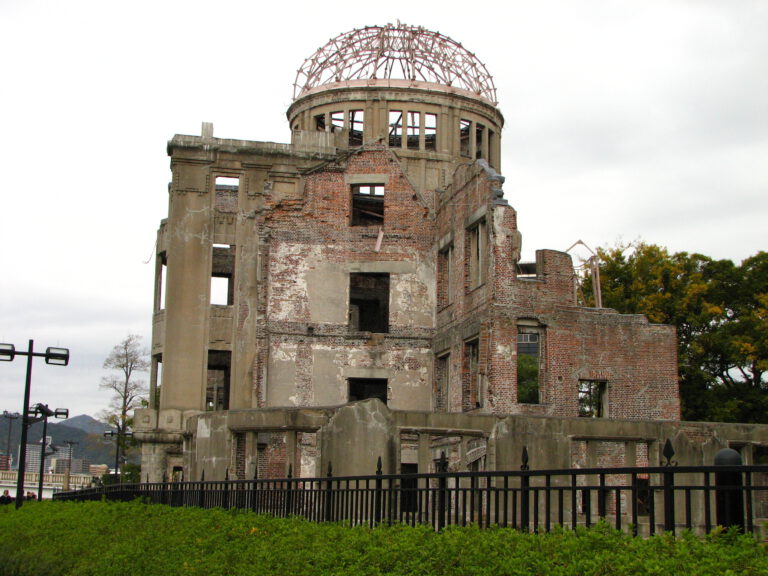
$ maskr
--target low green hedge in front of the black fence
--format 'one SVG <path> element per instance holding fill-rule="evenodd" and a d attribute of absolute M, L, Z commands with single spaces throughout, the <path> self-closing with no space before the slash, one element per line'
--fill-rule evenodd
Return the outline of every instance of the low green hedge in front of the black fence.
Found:
<path fill-rule="evenodd" d="M 722 531 L 647 540 L 606 525 L 542 535 L 474 527 L 435 533 L 139 503 L 30 502 L 0 507 L 0 573 L 723 576 L 768 574 L 768 555 L 755 538 Z"/>

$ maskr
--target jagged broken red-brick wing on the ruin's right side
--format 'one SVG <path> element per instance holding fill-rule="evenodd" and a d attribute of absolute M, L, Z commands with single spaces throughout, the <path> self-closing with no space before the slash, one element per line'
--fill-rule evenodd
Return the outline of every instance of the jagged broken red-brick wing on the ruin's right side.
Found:
<path fill-rule="evenodd" d="M 515 256 L 519 235 L 514 210 L 495 199 L 497 182 L 479 167 L 467 169 L 458 187 L 449 189 L 438 212 L 438 238 L 453 235 L 454 268 L 464 270 L 450 290 L 453 303 L 437 313 L 437 337 L 451 343 L 451 356 L 462 358 L 468 348 L 466 326 L 483 326 L 480 368 L 486 375 L 487 398 L 481 410 L 497 414 L 578 415 L 578 381 L 607 383 L 607 417 L 669 419 L 680 417 L 675 331 L 650 325 L 641 316 L 576 306 L 573 266 L 567 254 L 539 251 L 534 279 L 517 278 Z M 487 227 L 488 275 L 485 284 L 469 283 L 469 226 L 472 220 L 493 222 Z M 447 280 L 438 276 L 438 282 Z M 445 298 L 447 301 L 447 297 Z M 516 335 L 520 322 L 541 332 L 540 403 L 517 402 Z M 449 410 L 467 410 L 473 395 L 469 362 L 452 362 L 453 394 Z M 482 379 L 481 379 L 482 381 Z M 450 393 L 449 393 L 450 394 Z M 457 402 L 458 401 L 458 402 Z"/>

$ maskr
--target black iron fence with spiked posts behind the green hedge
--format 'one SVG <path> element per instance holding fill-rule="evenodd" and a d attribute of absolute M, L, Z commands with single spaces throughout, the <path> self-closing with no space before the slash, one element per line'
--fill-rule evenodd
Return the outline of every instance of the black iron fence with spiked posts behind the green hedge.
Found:
<path fill-rule="evenodd" d="M 675 466 L 121 484 L 59 493 L 56 500 L 133 500 L 240 508 L 318 522 L 509 526 L 549 531 L 602 519 L 648 536 L 715 526 L 759 531 L 768 520 L 768 466 Z"/>

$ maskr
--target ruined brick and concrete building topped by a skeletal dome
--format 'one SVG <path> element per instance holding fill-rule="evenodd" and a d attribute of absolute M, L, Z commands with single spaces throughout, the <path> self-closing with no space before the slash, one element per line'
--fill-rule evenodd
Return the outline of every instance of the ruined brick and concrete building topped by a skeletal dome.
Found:
<path fill-rule="evenodd" d="M 675 330 L 520 262 L 491 76 L 404 25 L 299 70 L 290 144 L 168 143 L 142 477 L 655 463 L 754 430 L 679 422 Z M 690 445 L 686 452 L 685 446 Z M 681 448 L 682 447 L 682 448 Z"/>

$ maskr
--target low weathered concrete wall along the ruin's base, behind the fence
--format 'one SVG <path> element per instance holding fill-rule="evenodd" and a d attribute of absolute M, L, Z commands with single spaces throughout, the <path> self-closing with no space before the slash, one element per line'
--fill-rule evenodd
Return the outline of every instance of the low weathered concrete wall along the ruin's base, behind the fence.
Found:
<path fill-rule="evenodd" d="M 751 463 L 754 447 L 768 447 L 765 425 L 439 414 L 390 410 L 378 400 L 332 409 L 206 413 L 190 419 L 187 430 L 195 441 L 186 445 L 185 467 L 195 478 L 205 469 L 208 479 L 238 468 L 231 449 L 235 434 L 251 438 L 239 456 L 248 470 L 258 458 L 259 435 L 281 435 L 282 451 L 272 456 L 273 477 L 287 474 L 288 464 L 295 476 L 302 469 L 324 475 L 329 463 L 334 476 L 368 475 L 375 473 L 379 457 L 385 473 L 398 472 L 402 462 L 429 472 L 441 452 L 449 457 L 451 470 L 468 470 L 473 463 L 479 470 L 519 470 L 524 447 L 531 469 L 654 466 L 663 462 L 667 439 L 681 466 L 712 464 L 715 454 L 729 446 L 739 448 Z M 308 461 L 299 436 L 309 433 L 317 438 L 309 457 L 314 462 Z"/>

